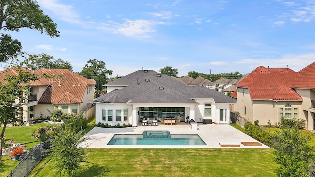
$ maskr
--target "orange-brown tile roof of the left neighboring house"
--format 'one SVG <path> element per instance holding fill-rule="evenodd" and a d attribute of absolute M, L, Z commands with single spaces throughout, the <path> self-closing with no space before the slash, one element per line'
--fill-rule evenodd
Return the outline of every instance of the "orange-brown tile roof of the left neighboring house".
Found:
<path fill-rule="evenodd" d="M 30 71 L 41 77 L 44 73 L 54 78 L 41 77 L 39 80 L 32 82 L 32 86 L 47 86 L 44 94 L 39 99 L 39 103 L 58 103 L 71 104 L 82 102 L 86 87 L 96 83 L 74 73 L 68 69 L 39 69 Z M 0 71 L 0 80 L 3 81 L 5 75 L 16 75 L 17 72 L 11 68 Z M 51 88 L 51 90 L 50 90 Z"/>

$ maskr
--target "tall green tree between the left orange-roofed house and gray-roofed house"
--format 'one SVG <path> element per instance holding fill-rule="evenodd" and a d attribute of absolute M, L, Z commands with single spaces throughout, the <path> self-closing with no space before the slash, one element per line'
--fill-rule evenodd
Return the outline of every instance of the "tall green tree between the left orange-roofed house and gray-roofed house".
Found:
<path fill-rule="evenodd" d="M 96 89 L 103 90 L 103 85 L 108 82 L 107 74 L 112 75 L 112 70 L 107 70 L 104 61 L 98 61 L 96 59 L 89 59 L 82 71 L 79 73 L 81 76 L 94 79 L 96 81 Z"/>

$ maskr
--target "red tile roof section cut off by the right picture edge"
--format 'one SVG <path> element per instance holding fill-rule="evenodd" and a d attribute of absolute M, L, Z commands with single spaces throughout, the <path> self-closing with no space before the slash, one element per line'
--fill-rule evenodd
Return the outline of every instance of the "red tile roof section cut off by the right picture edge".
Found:
<path fill-rule="evenodd" d="M 315 89 L 315 62 L 298 72 L 292 88 Z"/>

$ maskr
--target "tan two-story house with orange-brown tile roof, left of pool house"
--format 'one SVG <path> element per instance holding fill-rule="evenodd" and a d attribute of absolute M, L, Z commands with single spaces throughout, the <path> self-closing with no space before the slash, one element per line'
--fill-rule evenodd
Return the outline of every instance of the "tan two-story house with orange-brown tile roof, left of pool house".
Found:
<path fill-rule="evenodd" d="M 30 71 L 39 77 L 45 73 L 54 78 L 40 77 L 31 82 L 28 103 L 23 108 L 23 121 L 50 116 L 56 109 L 63 113 L 77 114 L 91 107 L 95 82 L 68 69 L 39 69 Z M 0 71 L 0 80 L 6 75 L 17 75 L 14 68 Z"/>

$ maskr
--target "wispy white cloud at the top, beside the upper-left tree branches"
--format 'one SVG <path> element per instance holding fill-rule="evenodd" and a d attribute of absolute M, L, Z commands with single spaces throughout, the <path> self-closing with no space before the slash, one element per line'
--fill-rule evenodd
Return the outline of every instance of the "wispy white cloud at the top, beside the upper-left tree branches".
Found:
<path fill-rule="evenodd" d="M 69 23 L 82 23 L 79 19 L 79 15 L 73 10 L 71 5 L 63 5 L 58 3 L 58 0 L 37 0 L 37 2 L 40 7 L 52 11 L 63 21 Z"/>

